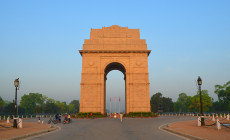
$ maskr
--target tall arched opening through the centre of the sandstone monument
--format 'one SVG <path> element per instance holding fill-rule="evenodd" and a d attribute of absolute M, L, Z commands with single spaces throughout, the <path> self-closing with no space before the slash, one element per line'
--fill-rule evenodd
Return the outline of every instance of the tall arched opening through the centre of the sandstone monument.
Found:
<path fill-rule="evenodd" d="M 110 63 L 105 68 L 105 112 L 126 112 L 126 70 L 117 62 Z M 120 102 L 119 102 L 120 99 Z"/>

